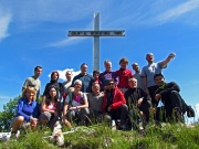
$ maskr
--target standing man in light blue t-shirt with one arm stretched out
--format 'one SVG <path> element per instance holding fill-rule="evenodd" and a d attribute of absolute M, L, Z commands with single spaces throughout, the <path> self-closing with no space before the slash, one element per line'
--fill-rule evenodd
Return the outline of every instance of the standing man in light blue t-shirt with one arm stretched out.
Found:
<path fill-rule="evenodd" d="M 166 60 L 155 63 L 154 62 L 154 54 L 148 53 L 146 55 L 146 60 L 148 65 L 144 66 L 142 70 L 142 77 L 144 81 L 145 92 L 150 95 L 151 104 L 154 107 L 158 106 L 158 102 L 155 99 L 155 92 L 157 91 L 157 86 L 154 82 L 154 76 L 156 74 L 160 74 L 163 68 L 167 67 L 167 64 L 170 62 L 171 58 L 176 56 L 175 53 L 170 53 Z"/>

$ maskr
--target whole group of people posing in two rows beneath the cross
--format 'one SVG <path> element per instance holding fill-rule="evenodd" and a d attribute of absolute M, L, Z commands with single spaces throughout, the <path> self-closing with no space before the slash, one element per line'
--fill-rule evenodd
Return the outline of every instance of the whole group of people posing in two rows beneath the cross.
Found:
<path fill-rule="evenodd" d="M 148 53 L 148 64 L 142 71 L 137 63 L 132 64 L 134 74 L 127 68 L 125 57 L 121 58 L 118 71 L 112 71 L 112 62 L 106 60 L 105 71 L 93 71 L 93 75 L 83 63 L 78 75 L 73 77 L 71 71 L 65 73 L 64 83 L 59 82 L 59 72 L 52 72 L 40 105 L 42 67 L 36 66 L 34 75 L 28 77 L 22 87 L 12 131 L 17 134 L 24 123 L 30 123 L 32 129 L 38 123 L 53 127 L 59 119 L 69 128 L 73 127 L 72 121 L 87 126 L 102 121 L 111 125 L 113 119 L 119 119 L 117 128 L 127 130 L 139 121 L 148 124 L 151 117 L 156 121 L 178 121 L 186 111 L 193 117 L 195 111 L 181 98 L 179 86 L 175 82 L 166 83 L 161 74 L 175 55 L 170 53 L 166 60 L 155 63 L 153 53 Z M 161 107 L 158 106 L 160 100 Z"/>

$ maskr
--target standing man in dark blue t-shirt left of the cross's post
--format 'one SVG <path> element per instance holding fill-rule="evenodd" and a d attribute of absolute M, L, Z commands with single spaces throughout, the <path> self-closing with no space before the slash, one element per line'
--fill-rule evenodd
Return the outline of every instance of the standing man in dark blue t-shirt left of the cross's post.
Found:
<path fill-rule="evenodd" d="M 87 64 L 83 63 L 81 65 L 81 73 L 76 75 L 72 81 L 72 86 L 74 87 L 74 82 L 76 79 L 82 81 L 82 88 L 81 91 L 83 93 L 91 93 L 92 92 L 92 84 L 94 82 L 94 78 L 92 75 L 87 74 Z"/>

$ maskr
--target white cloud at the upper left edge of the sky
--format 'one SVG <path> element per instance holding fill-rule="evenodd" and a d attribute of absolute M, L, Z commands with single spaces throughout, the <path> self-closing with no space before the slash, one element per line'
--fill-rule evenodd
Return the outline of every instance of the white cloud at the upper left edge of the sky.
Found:
<path fill-rule="evenodd" d="M 8 29 L 11 22 L 11 14 L 0 11 L 0 41 L 9 36 Z"/>

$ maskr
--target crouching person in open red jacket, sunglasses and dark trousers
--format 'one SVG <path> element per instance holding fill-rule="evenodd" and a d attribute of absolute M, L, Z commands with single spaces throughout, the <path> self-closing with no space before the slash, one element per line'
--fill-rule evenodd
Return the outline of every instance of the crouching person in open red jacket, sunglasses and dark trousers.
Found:
<path fill-rule="evenodd" d="M 117 88 L 114 79 L 107 81 L 105 86 L 102 111 L 109 125 L 112 120 L 121 119 L 118 129 L 127 129 L 128 107 L 124 94 Z"/>

